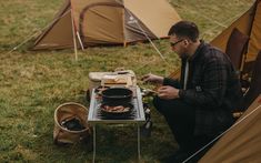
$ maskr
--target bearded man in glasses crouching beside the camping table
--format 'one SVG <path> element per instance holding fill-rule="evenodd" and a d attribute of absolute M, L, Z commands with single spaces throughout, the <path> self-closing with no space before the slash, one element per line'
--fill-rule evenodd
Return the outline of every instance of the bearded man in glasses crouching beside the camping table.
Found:
<path fill-rule="evenodd" d="M 232 110 L 242 93 L 228 55 L 199 40 L 193 22 L 175 23 L 169 35 L 182 61 L 180 81 L 154 74 L 144 75 L 143 81 L 162 84 L 153 104 L 180 146 L 168 161 L 182 162 L 233 123 Z"/>

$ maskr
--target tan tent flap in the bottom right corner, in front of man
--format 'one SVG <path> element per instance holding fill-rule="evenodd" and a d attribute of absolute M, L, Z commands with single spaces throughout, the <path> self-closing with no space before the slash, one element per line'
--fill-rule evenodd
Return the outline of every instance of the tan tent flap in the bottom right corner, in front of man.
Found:
<path fill-rule="evenodd" d="M 199 163 L 261 162 L 261 95 L 254 100 L 235 124 Z"/>

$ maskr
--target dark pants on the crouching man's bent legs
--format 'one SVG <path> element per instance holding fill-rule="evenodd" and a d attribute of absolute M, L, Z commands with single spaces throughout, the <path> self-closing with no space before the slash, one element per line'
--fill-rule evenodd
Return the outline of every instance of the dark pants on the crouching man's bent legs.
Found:
<path fill-rule="evenodd" d="M 194 136 L 195 108 L 177 100 L 154 98 L 155 109 L 165 118 L 181 151 L 193 153 L 212 140 L 207 135 Z"/>

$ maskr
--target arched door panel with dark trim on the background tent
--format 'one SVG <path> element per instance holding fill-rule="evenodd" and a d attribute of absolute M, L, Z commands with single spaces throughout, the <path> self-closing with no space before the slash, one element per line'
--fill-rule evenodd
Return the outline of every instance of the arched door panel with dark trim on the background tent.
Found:
<path fill-rule="evenodd" d="M 82 41 L 86 43 L 123 42 L 123 32 L 119 32 L 123 31 L 122 16 L 122 6 L 110 6 L 108 3 L 84 8 L 79 22 Z M 91 20 L 91 22 L 88 20 Z"/>

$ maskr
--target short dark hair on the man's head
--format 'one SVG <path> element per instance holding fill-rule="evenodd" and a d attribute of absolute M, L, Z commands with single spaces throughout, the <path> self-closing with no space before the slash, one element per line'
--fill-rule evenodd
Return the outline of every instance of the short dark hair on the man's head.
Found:
<path fill-rule="evenodd" d="M 197 24 L 191 21 L 179 21 L 169 30 L 168 35 L 173 34 L 178 38 L 189 38 L 191 41 L 195 42 L 199 38 L 199 29 Z"/>

